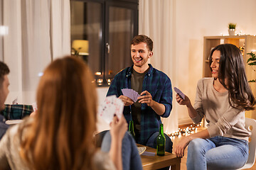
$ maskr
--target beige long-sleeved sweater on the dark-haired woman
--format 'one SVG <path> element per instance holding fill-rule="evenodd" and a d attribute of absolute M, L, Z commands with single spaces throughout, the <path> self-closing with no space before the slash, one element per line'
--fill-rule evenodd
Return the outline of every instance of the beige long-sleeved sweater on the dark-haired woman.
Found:
<path fill-rule="evenodd" d="M 245 111 L 230 106 L 228 91 L 219 93 L 213 87 L 213 78 L 198 81 L 194 108 L 198 115 L 194 123 L 200 123 L 203 116 L 208 123 L 210 137 L 224 136 L 248 140 L 250 132 L 245 129 Z"/>

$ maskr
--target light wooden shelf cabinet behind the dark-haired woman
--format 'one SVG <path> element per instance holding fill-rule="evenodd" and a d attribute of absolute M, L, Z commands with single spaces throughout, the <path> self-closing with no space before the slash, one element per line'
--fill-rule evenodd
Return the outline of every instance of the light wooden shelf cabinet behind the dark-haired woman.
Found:
<path fill-rule="evenodd" d="M 237 47 L 243 47 L 243 60 L 245 63 L 245 72 L 247 74 L 247 79 L 256 79 L 256 69 L 255 66 L 249 66 L 246 62 L 250 57 L 247 55 L 248 52 L 256 52 L 256 36 L 253 35 L 235 35 L 235 36 L 208 36 L 204 37 L 203 40 L 203 77 L 211 77 L 210 65 L 209 65 L 209 55 L 210 50 L 217 45 L 230 43 L 236 45 Z M 252 88 L 252 93 L 256 97 L 256 83 L 250 83 Z M 256 118 L 256 111 L 246 112 L 247 118 Z"/>

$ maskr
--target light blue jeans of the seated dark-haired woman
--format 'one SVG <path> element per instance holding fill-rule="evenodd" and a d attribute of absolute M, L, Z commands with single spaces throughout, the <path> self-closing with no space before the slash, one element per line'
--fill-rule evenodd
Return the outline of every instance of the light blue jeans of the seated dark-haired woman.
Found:
<path fill-rule="evenodd" d="M 211 137 L 207 140 L 191 140 L 188 145 L 188 170 L 239 169 L 248 159 L 249 147 L 246 140 L 230 137 Z"/>

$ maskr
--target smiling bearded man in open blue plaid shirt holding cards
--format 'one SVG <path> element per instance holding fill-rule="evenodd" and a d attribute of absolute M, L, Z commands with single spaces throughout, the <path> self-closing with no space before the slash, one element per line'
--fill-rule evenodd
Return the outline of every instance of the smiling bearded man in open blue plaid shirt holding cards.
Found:
<path fill-rule="evenodd" d="M 148 60 L 153 55 L 153 41 L 146 35 L 137 35 L 131 44 L 131 57 L 134 63 L 119 72 L 113 79 L 107 96 L 116 95 L 124 102 L 124 117 L 134 121 L 136 142 L 156 148 L 159 135 L 160 117 L 167 118 L 172 108 L 172 90 L 169 77 L 154 69 Z M 134 103 L 123 96 L 122 89 L 133 89 L 139 96 Z M 166 151 L 172 151 L 170 137 L 166 137 Z"/>

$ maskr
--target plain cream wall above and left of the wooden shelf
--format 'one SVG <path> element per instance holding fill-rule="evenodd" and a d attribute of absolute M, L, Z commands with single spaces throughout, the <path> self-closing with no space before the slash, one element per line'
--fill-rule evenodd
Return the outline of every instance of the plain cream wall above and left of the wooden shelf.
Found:
<path fill-rule="evenodd" d="M 237 23 L 242 33 L 256 34 L 255 0 L 175 0 L 175 81 L 192 103 L 196 84 L 203 76 L 203 36 L 228 35 L 228 23 Z M 187 123 L 185 106 L 178 107 L 179 123 Z"/>

